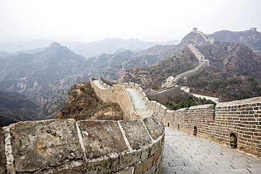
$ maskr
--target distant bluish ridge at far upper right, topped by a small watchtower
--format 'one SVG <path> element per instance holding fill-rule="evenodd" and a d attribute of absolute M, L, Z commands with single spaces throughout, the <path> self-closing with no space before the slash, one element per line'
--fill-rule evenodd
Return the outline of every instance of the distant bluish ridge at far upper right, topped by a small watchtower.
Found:
<path fill-rule="evenodd" d="M 217 42 L 239 42 L 245 44 L 261 58 L 261 33 L 256 30 L 245 30 L 243 32 L 221 30 L 214 32 L 210 37 L 215 37 Z"/>

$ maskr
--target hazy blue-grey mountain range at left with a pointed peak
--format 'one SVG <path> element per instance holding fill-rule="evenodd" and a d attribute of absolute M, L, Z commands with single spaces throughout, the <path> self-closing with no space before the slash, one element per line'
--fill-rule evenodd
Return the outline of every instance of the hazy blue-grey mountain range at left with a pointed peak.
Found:
<path fill-rule="evenodd" d="M 27 95 L 40 104 L 41 119 L 53 118 L 65 104 L 73 84 L 99 75 L 116 80 L 130 67 L 150 66 L 175 51 L 175 45 L 156 45 L 85 58 L 54 42 L 36 53 L 1 57 L 0 89 Z"/>

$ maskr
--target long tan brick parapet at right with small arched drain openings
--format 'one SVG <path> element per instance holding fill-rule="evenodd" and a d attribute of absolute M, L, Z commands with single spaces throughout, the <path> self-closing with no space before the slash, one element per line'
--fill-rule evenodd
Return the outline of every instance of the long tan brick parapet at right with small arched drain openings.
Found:
<path fill-rule="evenodd" d="M 261 97 L 166 110 L 165 125 L 261 156 Z"/>

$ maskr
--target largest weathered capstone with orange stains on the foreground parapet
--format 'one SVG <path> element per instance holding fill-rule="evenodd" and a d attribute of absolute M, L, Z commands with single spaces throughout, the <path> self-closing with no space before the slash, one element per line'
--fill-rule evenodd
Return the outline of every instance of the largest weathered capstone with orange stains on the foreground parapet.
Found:
<path fill-rule="evenodd" d="M 18 173 L 83 159 L 74 119 L 27 121 L 9 127 Z"/>

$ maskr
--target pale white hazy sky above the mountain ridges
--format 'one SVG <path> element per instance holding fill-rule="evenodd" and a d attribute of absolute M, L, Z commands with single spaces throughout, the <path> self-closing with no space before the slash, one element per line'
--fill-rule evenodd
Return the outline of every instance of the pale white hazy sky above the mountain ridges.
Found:
<path fill-rule="evenodd" d="M 0 42 L 25 39 L 181 40 L 193 27 L 261 30 L 261 0 L 0 0 Z"/>

